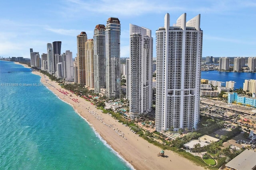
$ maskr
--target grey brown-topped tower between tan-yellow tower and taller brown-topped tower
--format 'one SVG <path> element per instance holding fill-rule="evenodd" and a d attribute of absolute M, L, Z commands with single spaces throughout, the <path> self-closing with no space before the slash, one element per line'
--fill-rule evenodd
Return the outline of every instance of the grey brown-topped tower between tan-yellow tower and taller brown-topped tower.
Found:
<path fill-rule="evenodd" d="M 93 35 L 94 93 L 106 88 L 105 26 L 96 25 Z"/>

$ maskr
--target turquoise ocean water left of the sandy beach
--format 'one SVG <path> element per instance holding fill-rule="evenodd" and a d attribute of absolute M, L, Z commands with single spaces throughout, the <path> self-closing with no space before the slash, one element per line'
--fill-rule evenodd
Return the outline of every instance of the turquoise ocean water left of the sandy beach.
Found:
<path fill-rule="evenodd" d="M 0 169 L 128 170 L 74 109 L 13 62 L 0 61 Z M 12 83 L 12 84 L 10 84 Z"/>

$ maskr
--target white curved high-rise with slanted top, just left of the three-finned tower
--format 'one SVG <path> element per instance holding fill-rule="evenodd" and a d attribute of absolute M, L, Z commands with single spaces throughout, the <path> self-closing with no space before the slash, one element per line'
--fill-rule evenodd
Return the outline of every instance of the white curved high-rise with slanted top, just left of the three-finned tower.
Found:
<path fill-rule="evenodd" d="M 126 94 L 129 95 L 131 119 L 151 111 L 152 53 L 151 30 L 130 24 L 129 87 Z"/>

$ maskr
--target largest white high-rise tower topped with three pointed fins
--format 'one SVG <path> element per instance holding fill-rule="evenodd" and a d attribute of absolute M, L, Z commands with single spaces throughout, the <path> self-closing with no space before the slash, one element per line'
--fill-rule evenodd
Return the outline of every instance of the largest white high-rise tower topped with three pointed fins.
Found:
<path fill-rule="evenodd" d="M 197 128 L 203 32 L 200 14 L 186 22 L 182 14 L 174 26 L 170 15 L 156 30 L 156 130 Z"/>

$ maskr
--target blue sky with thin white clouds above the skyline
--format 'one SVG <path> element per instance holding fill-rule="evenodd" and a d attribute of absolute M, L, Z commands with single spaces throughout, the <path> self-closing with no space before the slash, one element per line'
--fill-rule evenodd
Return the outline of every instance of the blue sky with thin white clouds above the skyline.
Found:
<path fill-rule="evenodd" d="M 0 6 L 1 57 L 29 58 L 30 48 L 42 54 L 47 43 L 61 41 L 61 52 L 74 58 L 76 36 L 93 38 L 95 26 L 110 17 L 120 20 L 121 57 L 129 57 L 129 24 L 152 30 L 155 40 L 166 13 L 171 26 L 183 13 L 187 21 L 201 14 L 202 57 L 256 56 L 256 0 L 1 0 Z"/>

